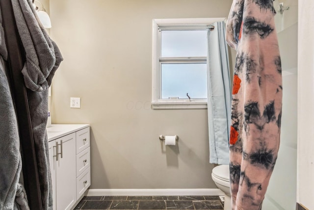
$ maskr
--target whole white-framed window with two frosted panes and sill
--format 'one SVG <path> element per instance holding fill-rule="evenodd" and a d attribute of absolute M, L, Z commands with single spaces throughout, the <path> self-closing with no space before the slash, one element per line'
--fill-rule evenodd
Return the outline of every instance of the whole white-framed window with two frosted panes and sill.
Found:
<path fill-rule="evenodd" d="M 207 108 L 207 33 L 216 21 L 153 20 L 153 109 Z"/>

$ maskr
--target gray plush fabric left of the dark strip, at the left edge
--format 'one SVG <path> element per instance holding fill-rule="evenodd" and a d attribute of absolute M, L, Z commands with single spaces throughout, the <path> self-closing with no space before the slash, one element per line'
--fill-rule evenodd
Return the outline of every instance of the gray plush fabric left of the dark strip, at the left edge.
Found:
<path fill-rule="evenodd" d="M 5 44 L 0 40 L 0 210 L 29 210 L 24 187 L 19 183 L 22 170 L 20 139 L 7 67 L 2 59 L 6 59 L 3 47 Z"/>

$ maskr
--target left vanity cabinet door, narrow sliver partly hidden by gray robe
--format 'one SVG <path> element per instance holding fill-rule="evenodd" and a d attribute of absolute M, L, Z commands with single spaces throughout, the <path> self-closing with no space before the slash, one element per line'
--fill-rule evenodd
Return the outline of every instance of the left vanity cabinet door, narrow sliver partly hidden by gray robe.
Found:
<path fill-rule="evenodd" d="M 55 188 L 55 172 L 56 172 L 56 162 L 53 155 L 56 154 L 55 140 L 48 143 L 49 147 L 49 163 L 51 171 L 51 180 L 52 180 L 52 199 L 53 199 L 53 210 L 56 210 L 56 188 Z"/>

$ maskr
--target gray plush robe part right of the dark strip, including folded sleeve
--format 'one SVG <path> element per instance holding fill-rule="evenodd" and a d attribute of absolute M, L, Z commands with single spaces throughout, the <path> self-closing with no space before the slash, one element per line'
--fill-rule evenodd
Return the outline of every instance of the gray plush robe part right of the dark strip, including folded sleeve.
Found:
<path fill-rule="evenodd" d="M 48 88 L 63 60 L 57 45 L 38 21 L 31 0 L 12 0 L 17 28 L 26 51 L 22 73 L 27 89 L 43 210 L 52 209 L 52 185 L 46 124 Z"/>

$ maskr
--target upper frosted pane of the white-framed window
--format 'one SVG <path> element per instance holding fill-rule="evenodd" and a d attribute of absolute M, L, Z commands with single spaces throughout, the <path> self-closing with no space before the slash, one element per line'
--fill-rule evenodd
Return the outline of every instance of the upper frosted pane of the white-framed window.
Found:
<path fill-rule="evenodd" d="M 207 30 L 161 30 L 161 57 L 206 57 Z"/>

